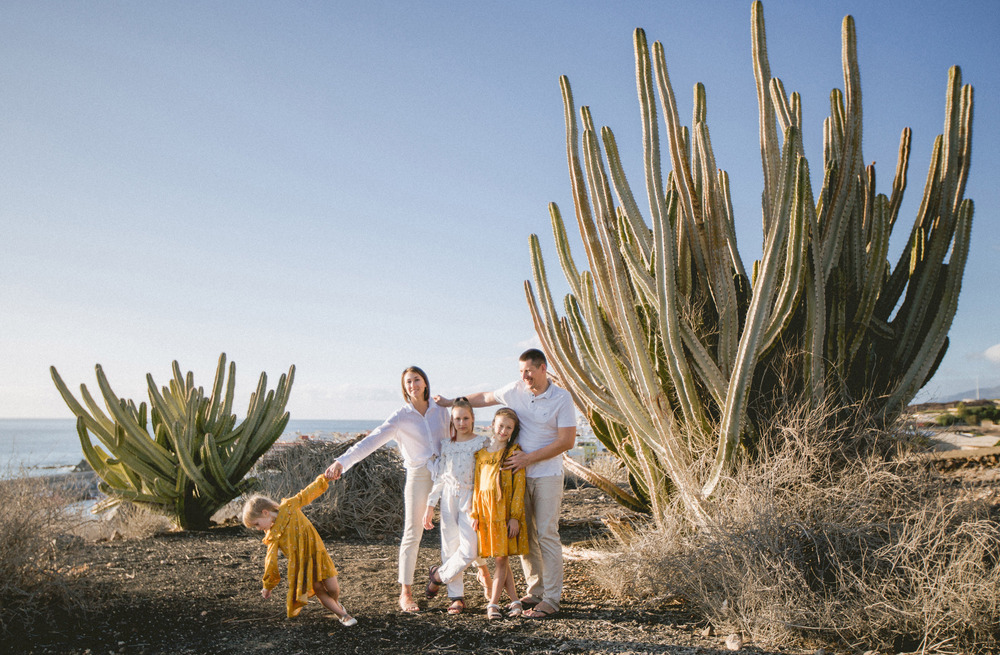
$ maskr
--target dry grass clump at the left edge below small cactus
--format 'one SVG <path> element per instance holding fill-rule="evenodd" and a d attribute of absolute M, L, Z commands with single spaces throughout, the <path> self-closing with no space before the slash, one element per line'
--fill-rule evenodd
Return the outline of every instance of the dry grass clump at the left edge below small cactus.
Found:
<path fill-rule="evenodd" d="M 0 480 L 0 635 L 30 633 L 85 609 L 56 553 L 74 546 L 66 536 L 65 497 L 42 480 Z"/>

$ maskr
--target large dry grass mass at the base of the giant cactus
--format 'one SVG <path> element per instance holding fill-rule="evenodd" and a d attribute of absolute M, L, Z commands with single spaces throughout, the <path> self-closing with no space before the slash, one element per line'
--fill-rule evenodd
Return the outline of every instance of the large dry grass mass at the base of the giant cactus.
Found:
<path fill-rule="evenodd" d="M 759 644 L 996 652 L 996 508 L 949 495 L 885 449 L 845 452 L 844 435 L 824 425 L 792 417 L 727 481 L 709 528 L 668 517 L 597 575 L 609 590 L 682 595 Z"/>

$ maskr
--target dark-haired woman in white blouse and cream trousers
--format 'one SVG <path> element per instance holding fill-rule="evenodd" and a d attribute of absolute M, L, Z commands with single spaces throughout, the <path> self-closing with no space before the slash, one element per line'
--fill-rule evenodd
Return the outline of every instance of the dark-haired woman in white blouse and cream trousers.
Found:
<path fill-rule="evenodd" d="M 417 565 L 420 538 L 424 533 L 423 516 L 427 509 L 433 480 L 428 465 L 441 453 L 441 441 L 447 438 L 451 416 L 430 395 L 427 374 L 411 366 L 402 375 L 403 399 L 406 401 L 367 437 L 338 457 L 326 469 L 326 477 L 337 480 L 352 466 L 391 440 L 399 445 L 406 467 L 403 492 L 406 507 L 403 538 L 399 544 L 399 608 L 419 612 L 413 599 L 413 572 Z"/>

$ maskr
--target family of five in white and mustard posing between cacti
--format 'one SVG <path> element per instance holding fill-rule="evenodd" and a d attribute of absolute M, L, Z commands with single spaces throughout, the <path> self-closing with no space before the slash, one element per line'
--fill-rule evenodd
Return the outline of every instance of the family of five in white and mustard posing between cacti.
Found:
<path fill-rule="evenodd" d="M 341 623 L 357 623 L 340 603 L 337 569 L 302 507 L 326 491 L 330 480 L 340 479 L 395 441 L 406 469 L 400 610 L 420 611 L 413 592 L 417 554 L 423 531 L 433 528 L 435 507 L 440 505 L 441 563 L 428 570 L 427 598 L 445 588 L 451 600 L 448 612 L 463 612 L 465 570 L 475 565 L 488 599 L 487 618 L 502 616 L 504 592 L 510 599 L 509 616 L 544 619 L 558 612 L 563 586 L 562 454 L 575 443 L 576 416 L 569 392 L 552 382 L 540 350 L 522 353 L 519 370 L 519 380 L 496 391 L 448 399 L 431 396 L 427 374 L 411 366 L 402 374 L 403 406 L 312 484 L 280 503 L 264 496 L 248 499 L 243 523 L 265 531 L 264 598 L 279 582 L 281 552 L 288 560 L 289 617 L 298 615 L 315 595 Z M 490 434 L 479 435 L 474 408 L 491 405 L 503 407 L 493 417 Z M 518 594 L 510 569 L 512 555 L 521 558 L 524 596 Z"/>

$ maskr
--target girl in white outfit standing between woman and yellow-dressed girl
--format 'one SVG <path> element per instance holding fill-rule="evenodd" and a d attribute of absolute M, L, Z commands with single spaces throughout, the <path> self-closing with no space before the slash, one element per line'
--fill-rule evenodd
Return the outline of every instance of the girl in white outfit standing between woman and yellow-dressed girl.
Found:
<path fill-rule="evenodd" d="M 434 527 L 434 507 L 441 501 L 441 566 L 432 566 L 427 583 L 427 597 L 437 595 L 447 585 L 451 599 L 449 614 L 465 609 L 463 576 L 469 564 L 479 568 L 479 581 L 489 588 L 490 575 L 485 560 L 476 558 L 478 541 L 469 512 L 472 509 L 473 474 L 476 451 L 487 438 L 474 432 L 475 414 L 465 398 L 456 398 L 451 408 L 451 439 L 441 442 L 441 455 L 435 466 L 434 487 L 427 499 L 424 528 Z"/>

